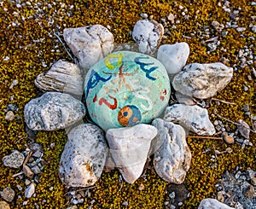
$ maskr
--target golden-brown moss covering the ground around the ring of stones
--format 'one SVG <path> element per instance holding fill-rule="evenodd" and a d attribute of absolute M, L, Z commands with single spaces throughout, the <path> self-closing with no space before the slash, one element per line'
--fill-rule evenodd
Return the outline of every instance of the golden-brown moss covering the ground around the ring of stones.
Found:
<path fill-rule="evenodd" d="M 18 2 L 18 1 L 17 1 Z M 235 28 L 228 28 L 229 33 L 221 37 L 219 32 L 214 31 L 211 26 L 212 20 L 218 20 L 225 23 L 230 20 L 229 13 L 218 7 L 218 1 L 120 1 L 120 0 L 102 0 L 102 1 L 20 1 L 20 6 L 15 1 L 3 1 L 0 7 L 0 159 L 4 155 L 10 154 L 14 149 L 26 148 L 27 139 L 21 139 L 26 136 L 24 131 L 23 109 L 29 100 L 36 96 L 37 89 L 33 84 L 34 78 L 38 73 L 47 70 L 50 64 L 60 58 L 69 60 L 65 49 L 55 37 L 54 32 L 63 32 L 66 27 L 88 26 L 93 24 L 102 24 L 110 26 L 116 43 L 132 42 L 130 32 L 137 20 L 140 20 L 141 13 L 153 15 L 154 20 L 160 21 L 172 13 L 177 15 L 175 24 L 177 29 L 172 29 L 172 24 L 168 23 L 166 28 L 171 35 L 166 35 L 162 44 L 174 44 L 185 41 L 189 44 L 190 55 L 189 63 L 200 62 L 209 63 L 219 61 L 222 56 L 230 60 L 230 66 L 238 64 L 237 53 L 243 46 L 253 44 L 253 40 L 247 38 L 253 36 L 253 32 L 247 30 L 242 32 L 246 38 L 241 38 L 240 33 Z M 219 1 L 220 2 L 220 1 Z M 41 3 L 40 5 L 38 3 Z M 38 6 L 37 6 L 38 5 Z M 73 5 L 73 7 L 71 7 Z M 178 5 L 188 9 L 189 19 L 185 20 L 181 15 Z M 253 14 L 253 7 L 250 1 L 236 0 L 232 1 L 234 9 L 241 7 L 239 26 L 248 26 L 250 16 Z M 199 10 L 199 11 L 197 11 Z M 255 11 L 255 10 L 254 10 Z M 197 19 L 195 19 L 197 15 Z M 217 50 L 207 55 L 206 45 L 201 44 L 201 38 L 198 31 L 202 31 L 203 26 L 209 26 L 212 33 L 220 36 L 221 45 Z M 195 35 L 191 33 L 195 32 Z M 183 38 L 183 35 L 191 38 Z M 220 50 L 224 47 L 226 51 Z M 255 47 L 255 46 L 254 46 Z M 9 56 L 8 61 L 3 61 Z M 44 67 L 44 65 L 47 67 Z M 243 68 L 234 73 L 230 84 L 216 98 L 228 102 L 235 102 L 236 105 L 221 103 L 216 105 L 214 102 L 209 107 L 211 114 L 213 109 L 217 109 L 222 116 L 237 121 L 245 120 L 251 125 L 250 119 L 241 111 L 241 107 L 249 104 L 255 115 L 255 91 L 253 81 L 247 80 L 247 75 L 251 75 L 249 67 Z M 9 85 L 14 79 L 18 79 L 19 84 L 9 90 Z M 250 85 L 249 91 L 243 90 L 245 85 Z M 11 100 L 13 96 L 13 100 Z M 9 103 L 17 104 L 19 110 L 15 116 L 20 119 L 13 121 L 5 120 L 4 109 Z M 253 109 L 254 108 L 254 109 Z M 212 116 L 212 121 L 215 116 Z M 225 121 L 232 131 L 236 127 Z M 21 140 L 20 140 L 21 139 Z M 15 200 L 10 204 L 12 208 L 34 208 L 38 203 L 40 208 L 65 208 L 68 206 L 67 190 L 61 184 L 57 171 L 67 137 L 65 131 L 45 132 L 41 131 L 36 136 L 36 142 L 44 146 L 44 171 L 40 175 L 36 197 L 27 200 L 27 205 L 22 206 L 24 197 L 24 179 L 14 178 L 13 174 L 19 170 L 9 169 L 0 164 L 0 189 L 10 186 L 15 189 Z M 49 148 L 49 144 L 55 142 L 55 148 Z M 251 142 L 256 144 L 255 134 L 251 135 Z M 231 154 L 222 154 L 218 157 L 216 164 L 212 165 L 210 160 L 213 154 L 212 146 L 220 151 L 228 147 L 222 140 L 196 139 L 188 138 L 189 148 L 192 152 L 192 163 L 186 177 L 185 183 L 188 186 L 190 196 L 184 203 L 183 208 L 195 208 L 200 201 L 207 197 L 212 197 L 216 191 L 214 184 L 224 173 L 224 171 L 233 171 L 235 167 L 241 166 L 242 170 L 249 168 L 256 170 L 255 165 L 255 146 L 241 149 L 240 144 L 232 144 Z M 204 153 L 207 148 L 210 153 Z M 95 200 L 92 208 L 121 208 L 124 201 L 129 203 L 128 208 L 162 208 L 164 200 L 167 200 L 166 187 L 171 185 L 165 183 L 157 177 L 153 171 L 147 171 L 146 177 L 141 177 L 136 183 L 119 183 L 118 171 L 103 173 L 101 179 L 96 183 L 96 188 L 90 189 L 91 197 L 84 200 L 81 208 L 90 206 L 90 201 Z M 139 185 L 143 183 L 145 189 L 140 191 Z M 19 191 L 15 188 L 17 184 L 23 187 Z M 53 187 L 50 191 L 49 188 Z M 18 199 L 18 195 L 21 196 Z"/>

